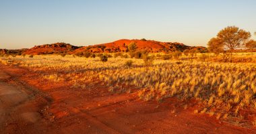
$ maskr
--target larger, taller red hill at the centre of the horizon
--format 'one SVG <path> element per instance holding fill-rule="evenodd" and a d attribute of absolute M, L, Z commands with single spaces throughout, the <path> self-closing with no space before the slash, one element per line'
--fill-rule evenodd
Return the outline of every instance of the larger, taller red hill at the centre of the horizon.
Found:
<path fill-rule="evenodd" d="M 184 50 L 199 50 L 199 52 L 206 51 L 205 47 L 191 47 L 186 46 L 181 43 L 177 42 L 157 42 L 154 40 L 117 40 L 115 42 L 107 43 L 107 44 L 98 44 L 94 46 L 84 46 L 77 50 L 71 52 L 72 54 L 78 52 L 93 52 L 93 53 L 100 53 L 100 52 L 127 52 L 128 45 L 131 42 L 135 42 L 137 45 L 138 50 L 146 50 L 147 52 L 174 52 L 174 51 L 181 51 Z"/>

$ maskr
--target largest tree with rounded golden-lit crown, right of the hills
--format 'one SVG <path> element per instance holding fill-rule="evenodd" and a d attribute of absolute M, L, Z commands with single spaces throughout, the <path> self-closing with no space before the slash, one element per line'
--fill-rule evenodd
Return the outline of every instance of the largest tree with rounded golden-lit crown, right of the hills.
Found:
<path fill-rule="evenodd" d="M 242 48 L 251 38 L 251 33 L 245 31 L 244 29 L 239 29 L 235 26 L 228 26 L 220 30 L 216 38 L 212 38 L 208 42 L 208 49 L 218 52 L 225 52 L 229 50 L 230 52 L 230 61 L 232 62 L 232 53 L 235 49 Z M 215 50 L 214 50 L 215 51 Z"/>

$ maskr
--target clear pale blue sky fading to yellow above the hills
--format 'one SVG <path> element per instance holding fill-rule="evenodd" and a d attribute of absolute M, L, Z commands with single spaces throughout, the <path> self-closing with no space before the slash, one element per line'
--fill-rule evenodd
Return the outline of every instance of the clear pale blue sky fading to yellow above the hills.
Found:
<path fill-rule="evenodd" d="M 7 49 L 141 38 L 205 46 L 228 25 L 253 35 L 256 1 L 0 0 L 0 48 Z"/>

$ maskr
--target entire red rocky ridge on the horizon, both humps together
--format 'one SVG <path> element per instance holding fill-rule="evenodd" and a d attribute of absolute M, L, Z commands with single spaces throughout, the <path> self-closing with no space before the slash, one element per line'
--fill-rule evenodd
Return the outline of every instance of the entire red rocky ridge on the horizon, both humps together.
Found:
<path fill-rule="evenodd" d="M 45 44 L 42 46 L 34 46 L 26 50 L 23 54 L 77 54 L 79 52 L 92 52 L 92 53 L 101 53 L 101 52 L 128 52 L 128 46 L 131 42 L 135 42 L 137 45 L 137 50 L 146 50 L 147 52 L 175 52 L 184 50 L 197 50 L 198 52 L 205 52 L 207 49 L 205 47 L 191 47 L 186 46 L 181 43 L 172 43 L 172 42 L 157 42 L 154 40 L 117 40 L 115 42 L 107 44 L 98 44 L 94 46 L 84 46 L 77 47 L 65 43 L 56 43 L 56 44 Z"/>

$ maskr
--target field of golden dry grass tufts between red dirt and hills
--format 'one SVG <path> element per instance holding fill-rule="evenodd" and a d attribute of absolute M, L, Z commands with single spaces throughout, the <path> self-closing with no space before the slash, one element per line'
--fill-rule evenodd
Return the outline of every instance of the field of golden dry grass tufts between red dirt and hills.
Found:
<path fill-rule="evenodd" d="M 2 57 L 6 65 L 20 66 L 53 82 L 69 82 L 72 88 L 86 83 L 106 85 L 110 92 L 137 92 L 141 100 L 176 97 L 197 102 L 195 113 L 207 113 L 232 123 L 256 125 L 256 54 L 237 53 L 234 62 L 219 62 L 221 56 L 197 54 L 162 60 L 153 64 L 135 58 L 96 58 L 62 56 Z M 131 62 L 127 66 L 127 62 Z M 187 105 L 184 106 L 187 109 Z"/>

